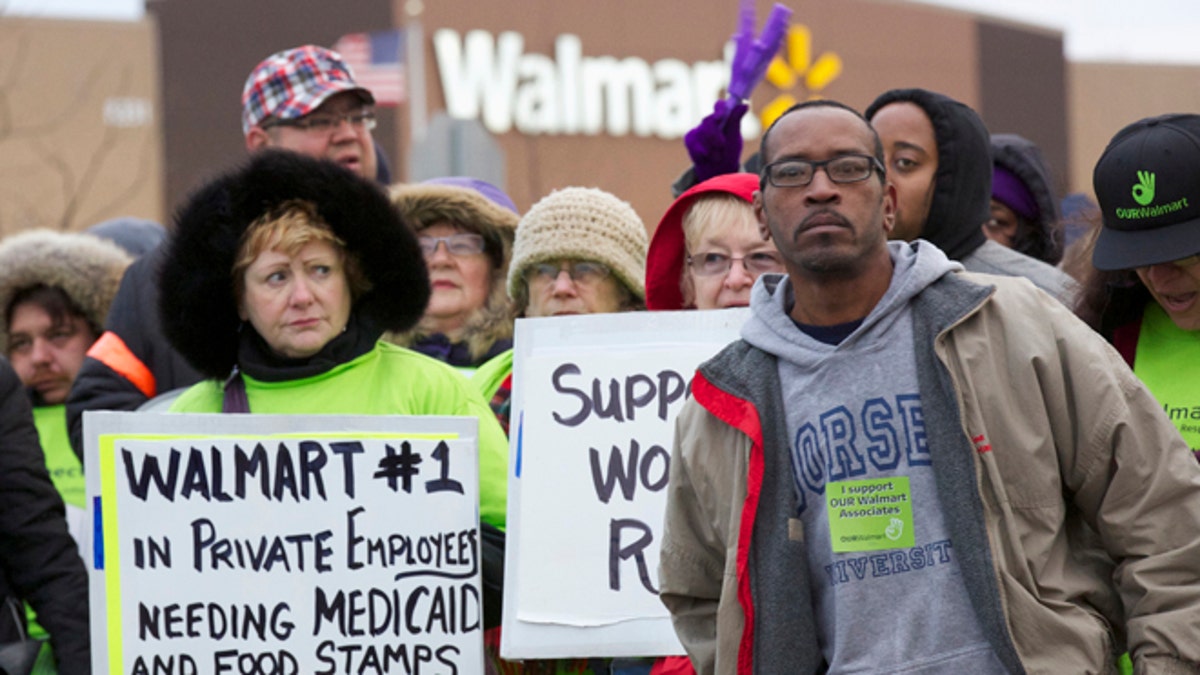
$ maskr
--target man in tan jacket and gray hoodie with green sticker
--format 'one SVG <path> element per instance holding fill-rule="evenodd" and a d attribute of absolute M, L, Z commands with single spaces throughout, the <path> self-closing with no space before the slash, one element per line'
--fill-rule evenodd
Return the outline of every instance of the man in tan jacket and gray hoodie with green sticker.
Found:
<path fill-rule="evenodd" d="M 889 241 L 854 110 L 793 107 L 762 157 L 787 276 L 671 459 L 660 596 L 696 670 L 1104 673 L 1128 644 L 1194 671 L 1200 466 L 1120 357 L 1028 281 Z"/>

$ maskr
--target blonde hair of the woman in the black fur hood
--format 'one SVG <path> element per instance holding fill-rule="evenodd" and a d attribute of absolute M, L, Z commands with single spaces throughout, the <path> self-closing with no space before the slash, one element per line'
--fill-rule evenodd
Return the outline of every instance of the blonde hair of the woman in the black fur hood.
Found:
<path fill-rule="evenodd" d="M 358 300 L 371 289 L 371 281 L 362 274 L 358 257 L 346 250 L 346 241 L 322 220 L 317 205 L 304 199 L 288 199 L 258 216 L 241 234 L 232 271 L 234 298 L 240 299 L 246 291 L 246 270 L 263 251 L 275 250 L 294 256 L 313 241 L 324 241 L 337 250 L 346 268 L 352 300 Z"/>

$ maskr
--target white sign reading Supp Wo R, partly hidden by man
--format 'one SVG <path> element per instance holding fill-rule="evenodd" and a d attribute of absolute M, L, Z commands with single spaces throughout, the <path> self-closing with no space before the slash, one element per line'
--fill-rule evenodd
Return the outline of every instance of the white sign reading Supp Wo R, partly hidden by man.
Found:
<path fill-rule="evenodd" d="M 517 321 L 502 656 L 683 653 L 658 598 L 674 417 L 746 316 Z"/>

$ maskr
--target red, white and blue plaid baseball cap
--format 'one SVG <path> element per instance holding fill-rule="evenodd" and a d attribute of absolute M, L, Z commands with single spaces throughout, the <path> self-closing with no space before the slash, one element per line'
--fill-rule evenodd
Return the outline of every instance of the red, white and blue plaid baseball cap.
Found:
<path fill-rule="evenodd" d="M 241 131 L 250 133 L 269 117 L 300 119 L 342 91 L 356 91 L 365 102 L 374 103 L 374 96 L 354 82 L 354 73 L 337 52 L 305 44 L 271 54 L 246 78 Z"/>

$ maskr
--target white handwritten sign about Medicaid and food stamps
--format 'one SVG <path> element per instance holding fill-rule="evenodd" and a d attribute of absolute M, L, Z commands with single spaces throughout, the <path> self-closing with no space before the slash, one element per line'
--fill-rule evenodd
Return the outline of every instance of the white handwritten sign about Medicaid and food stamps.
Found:
<path fill-rule="evenodd" d="M 95 673 L 482 671 L 476 419 L 85 429 Z"/>

